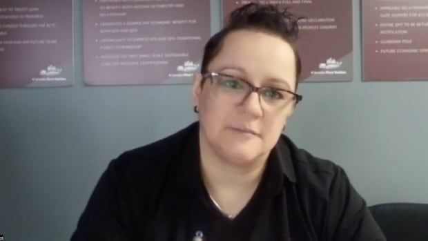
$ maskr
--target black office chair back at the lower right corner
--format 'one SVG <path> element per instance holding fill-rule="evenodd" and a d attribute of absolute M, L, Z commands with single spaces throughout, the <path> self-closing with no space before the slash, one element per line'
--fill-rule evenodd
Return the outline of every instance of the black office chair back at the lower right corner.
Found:
<path fill-rule="evenodd" d="M 378 204 L 369 210 L 388 241 L 428 241 L 428 204 Z"/>

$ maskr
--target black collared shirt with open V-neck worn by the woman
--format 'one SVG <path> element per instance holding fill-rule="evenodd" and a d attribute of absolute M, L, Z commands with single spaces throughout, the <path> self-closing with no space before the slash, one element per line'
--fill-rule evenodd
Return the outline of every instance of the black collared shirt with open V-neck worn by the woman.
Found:
<path fill-rule="evenodd" d="M 233 219 L 200 172 L 196 122 L 110 162 L 71 240 L 386 240 L 342 168 L 282 135 Z"/>

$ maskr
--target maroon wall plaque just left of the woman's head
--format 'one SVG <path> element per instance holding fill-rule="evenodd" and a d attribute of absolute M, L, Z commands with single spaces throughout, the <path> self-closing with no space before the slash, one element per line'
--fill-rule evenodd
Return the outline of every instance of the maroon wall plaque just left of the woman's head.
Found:
<path fill-rule="evenodd" d="M 191 83 L 210 37 L 201 0 L 91 0 L 84 9 L 88 85 Z"/>

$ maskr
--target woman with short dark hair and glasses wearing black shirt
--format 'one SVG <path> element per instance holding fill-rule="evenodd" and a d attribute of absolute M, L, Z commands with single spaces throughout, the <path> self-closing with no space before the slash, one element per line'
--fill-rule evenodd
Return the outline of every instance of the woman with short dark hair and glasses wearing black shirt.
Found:
<path fill-rule="evenodd" d="M 385 240 L 342 168 L 281 135 L 297 19 L 255 3 L 206 44 L 199 122 L 110 163 L 72 240 Z"/>

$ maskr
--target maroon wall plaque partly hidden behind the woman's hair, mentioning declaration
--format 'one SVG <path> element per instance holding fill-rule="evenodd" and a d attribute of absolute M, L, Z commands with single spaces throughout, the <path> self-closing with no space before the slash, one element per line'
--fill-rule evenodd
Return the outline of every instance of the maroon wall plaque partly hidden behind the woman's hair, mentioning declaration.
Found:
<path fill-rule="evenodd" d="M 223 0 L 223 17 L 251 1 Z M 353 79 L 352 1 L 257 1 L 288 7 L 298 16 L 298 51 L 302 58 L 301 81 L 351 81 Z"/>

